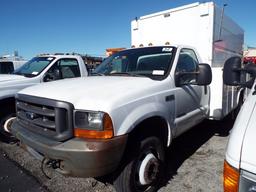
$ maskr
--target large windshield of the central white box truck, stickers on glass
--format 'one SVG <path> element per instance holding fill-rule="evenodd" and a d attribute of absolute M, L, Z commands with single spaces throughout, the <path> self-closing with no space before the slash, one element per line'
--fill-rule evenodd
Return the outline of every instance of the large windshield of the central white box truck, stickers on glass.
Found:
<path fill-rule="evenodd" d="M 145 47 L 120 51 L 104 60 L 92 75 L 164 78 L 171 68 L 173 47 Z"/>

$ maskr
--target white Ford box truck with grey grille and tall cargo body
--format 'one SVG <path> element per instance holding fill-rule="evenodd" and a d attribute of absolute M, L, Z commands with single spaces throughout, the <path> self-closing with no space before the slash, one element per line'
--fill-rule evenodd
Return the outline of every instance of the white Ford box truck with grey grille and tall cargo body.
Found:
<path fill-rule="evenodd" d="M 221 68 L 241 56 L 243 31 L 226 16 L 218 25 L 219 14 L 211 2 L 196 3 L 132 21 L 132 45 L 156 46 L 115 53 L 95 76 L 20 91 L 11 132 L 42 167 L 78 177 L 111 174 L 117 191 L 157 190 L 173 139 L 236 106 Z M 188 45 L 173 44 L 182 40 Z M 226 107 L 229 93 L 235 101 Z"/>

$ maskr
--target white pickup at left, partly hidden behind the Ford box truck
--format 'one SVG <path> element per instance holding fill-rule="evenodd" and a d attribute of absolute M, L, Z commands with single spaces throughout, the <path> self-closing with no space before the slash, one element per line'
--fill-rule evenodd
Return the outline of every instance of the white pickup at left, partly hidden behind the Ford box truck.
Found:
<path fill-rule="evenodd" d="M 6 65 L 6 63 L 5 63 Z M 0 138 L 12 142 L 8 129 L 15 117 L 15 94 L 25 87 L 58 79 L 87 76 L 79 55 L 41 55 L 32 58 L 12 74 L 0 74 Z"/>

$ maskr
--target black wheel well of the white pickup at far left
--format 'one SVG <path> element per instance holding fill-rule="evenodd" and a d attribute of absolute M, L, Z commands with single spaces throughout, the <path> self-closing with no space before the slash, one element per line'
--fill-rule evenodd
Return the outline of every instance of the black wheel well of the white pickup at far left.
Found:
<path fill-rule="evenodd" d="M 0 118 L 7 114 L 15 113 L 15 98 L 9 97 L 0 100 Z"/>

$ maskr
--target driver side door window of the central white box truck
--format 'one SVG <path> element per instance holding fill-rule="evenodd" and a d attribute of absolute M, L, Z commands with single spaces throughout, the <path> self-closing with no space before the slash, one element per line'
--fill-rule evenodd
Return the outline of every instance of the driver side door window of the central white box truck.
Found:
<path fill-rule="evenodd" d="M 193 50 L 182 49 L 180 51 L 175 74 L 178 74 L 179 72 L 188 72 L 188 74 L 183 74 L 180 76 L 181 84 L 187 84 L 196 81 L 196 75 L 189 74 L 189 72 L 197 72 L 198 64 L 199 62 Z"/>

